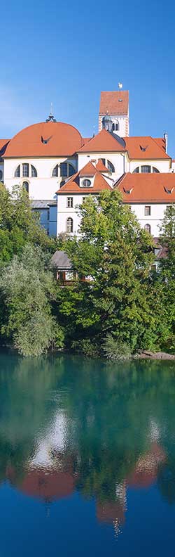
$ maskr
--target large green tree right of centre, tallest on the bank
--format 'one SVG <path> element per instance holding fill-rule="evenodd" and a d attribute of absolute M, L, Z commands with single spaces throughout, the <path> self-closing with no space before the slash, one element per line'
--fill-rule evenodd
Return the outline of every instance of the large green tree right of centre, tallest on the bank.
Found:
<path fill-rule="evenodd" d="M 78 271 L 73 288 L 58 288 L 59 314 L 69 339 L 102 342 L 106 335 L 134 351 L 152 347 L 155 319 L 149 302 L 153 240 L 142 230 L 120 193 L 89 196 L 79 209 L 80 239 L 64 249 Z M 92 280 L 82 281 L 83 276 Z"/>

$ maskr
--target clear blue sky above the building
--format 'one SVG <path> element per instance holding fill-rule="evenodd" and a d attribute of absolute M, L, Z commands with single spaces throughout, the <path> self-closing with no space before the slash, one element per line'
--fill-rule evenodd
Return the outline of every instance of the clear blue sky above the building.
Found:
<path fill-rule="evenodd" d="M 100 91 L 130 90 L 130 135 L 169 135 L 175 158 L 175 5 L 1 3 L 0 137 L 45 120 L 97 132 Z"/>

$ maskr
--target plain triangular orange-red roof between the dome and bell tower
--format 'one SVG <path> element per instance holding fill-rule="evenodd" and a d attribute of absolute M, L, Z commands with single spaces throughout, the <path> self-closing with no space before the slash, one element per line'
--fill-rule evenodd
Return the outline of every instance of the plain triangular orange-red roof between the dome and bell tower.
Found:
<path fill-rule="evenodd" d="M 125 147 L 118 141 L 114 134 L 110 134 L 106 129 L 102 129 L 99 134 L 92 137 L 85 146 L 79 149 L 80 153 L 117 153 L 125 151 Z"/>

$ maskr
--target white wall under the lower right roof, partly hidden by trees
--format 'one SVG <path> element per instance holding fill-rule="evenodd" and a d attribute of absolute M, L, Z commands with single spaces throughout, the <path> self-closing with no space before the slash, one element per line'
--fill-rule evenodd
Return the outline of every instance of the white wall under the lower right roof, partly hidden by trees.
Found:
<path fill-rule="evenodd" d="M 128 203 L 128 205 L 130 205 L 131 210 L 137 216 L 141 228 L 144 228 L 146 224 L 150 224 L 152 236 L 160 236 L 160 225 L 169 203 L 167 205 L 164 203 L 145 203 L 143 205 L 141 203 Z M 151 215 L 145 215 L 145 207 L 148 205 L 151 207 Z"/>

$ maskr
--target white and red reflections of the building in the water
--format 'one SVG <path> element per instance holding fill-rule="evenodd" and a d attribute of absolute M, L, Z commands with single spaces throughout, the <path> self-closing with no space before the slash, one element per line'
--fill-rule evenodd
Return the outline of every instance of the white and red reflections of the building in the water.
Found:
<path fill-rule="evenodd" d="M 68 430 L 66 416 L 56 414 L 45 436 L 36 440 L 34 454 L 25 464 L 22 479 L 18 478 L 14 466 L 8 464 L 6 467 L 6 479 L 10 484 L 28 497 L 41 499 L 47 505 L 48 516 L 52 501 L 70 497 L 83 482 L 80 477 L 81 456 L 78 450 L 69 450 Z M 118 535 L 125 524 L 127 489 L 150 487 L 165 462 L 165 450 L 159 442 L 152 441 L 148 451 L 139 456 L 127 477 L 120 483 L 116 482 L 113 499 L 105 499 L 104 495 L 102 500 L 102 493 L 98 494 L 98 489 L 94 489 L 97 520 L 112 524 Z"/>

